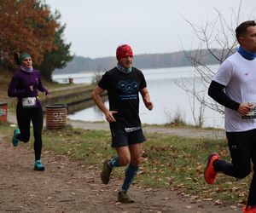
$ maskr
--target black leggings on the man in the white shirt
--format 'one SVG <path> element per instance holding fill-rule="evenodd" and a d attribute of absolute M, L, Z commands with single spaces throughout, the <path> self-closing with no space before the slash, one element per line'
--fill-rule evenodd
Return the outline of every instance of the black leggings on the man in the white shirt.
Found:
<path fill-rule="evenodd" d="M 256 130 L 244 132 L 227 132 L 231 163 L 224 160 L 214 162 L 214 170 L 228 176 L 244 178 L 251 172 L 253 162 L 253 179 L 251 182 L 247 205 L 256 204 Z"/>

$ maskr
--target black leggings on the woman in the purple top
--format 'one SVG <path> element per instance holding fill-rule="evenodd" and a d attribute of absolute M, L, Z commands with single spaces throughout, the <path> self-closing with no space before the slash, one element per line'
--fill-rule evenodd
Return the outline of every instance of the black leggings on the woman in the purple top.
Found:
<path fill-rule="evenodd" d="M 17 135 L 19 141 L 28 142 L 30 138 L 30 123 L 32 121 L 34 133 L 34 153 L 35 160 L 41 158 L 42 152 L 42 130 L 44 124 L 44 113 L 42 107 L 23 108 L 18 102 L 16 108 L 17 122 L 20 134 Z"/>

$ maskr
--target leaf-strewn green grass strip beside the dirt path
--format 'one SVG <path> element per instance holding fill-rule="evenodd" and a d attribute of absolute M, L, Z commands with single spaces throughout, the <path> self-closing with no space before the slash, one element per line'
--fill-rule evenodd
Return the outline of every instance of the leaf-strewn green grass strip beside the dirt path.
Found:
<path fill-rule="evenodd" d="M 8 135 L 12 128 L 0 125 L 0 132 Z M 177 190 L 198 199 L 221 199 L 226 204 L 244 204 L 251 176 L 236 181 L 218 174 L 217 184 L 209 186 L 203 178 L 207 153 L 218 152 L 230 160 L 225 140 L 188 139 L 149 134 L 144 145 L 143 161 L 135 183 L 145 187 Z M 70 126 L 62 130 L 44 130 L 44 150 L 67 155 L 83 164 L 102 167 L 102 161 L 115 154 L 111 148 L 109 131 L 79 130 Z M 31 143 L 32 146 L 32 143 Z M 114 170 L 113 176 L 122 179 L 124 168 Z"/>

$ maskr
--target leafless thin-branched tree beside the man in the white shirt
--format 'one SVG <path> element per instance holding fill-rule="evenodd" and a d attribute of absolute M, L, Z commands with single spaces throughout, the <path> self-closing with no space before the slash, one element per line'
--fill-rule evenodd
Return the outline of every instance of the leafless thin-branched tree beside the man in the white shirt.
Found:
<path fill-rule="evenodd" d="M 195 85 L 190 87 L 183 81 L 180 81 L 177 84 L 192 96 L 194 101 L 199 101 L 201 109 L 203 110 L 204 108 L 202 106 L 205 106 L 214 111 L 224 113 L 224 107 L 218 105 L 216 101 L 213 101 L 210 98 L 206 99 L 205 95 L 209 84 L 212 82 L 212 77 L 218 70 L 218 66 L 236 51 L 237 42 L 235 29 L 241 20 L 240 14 L 242 2 L 243 1 L 241 0 L 237 11 L 231 9 L 231 17 L 229 21 L 224 18 L 224 15 L 218 9 L 214 9 L 217 13 L 217 17 L 212 21 L 207 21 L 204 26 L 195 26 L 189 20 L 184 19 L 189 26 L 192 27 L 195 32 L 195 37 L 199 40 L 199 46 L 195 51 L 191 51 L 190 54 L 186 51 L 184 51 L 184 53 L 190 60 L 191 65 L 195 67 L 195 78 L 201 79 L 202 87 L 200 90 L 196 90 Z M 252 14 L 250 14 L 250 17 L 252 17 Z M 213 57 L 218 66 L 207 65 L 205 62 L 207 57 Z M 201 111 L 199 118 L 203 118 Z"/>

